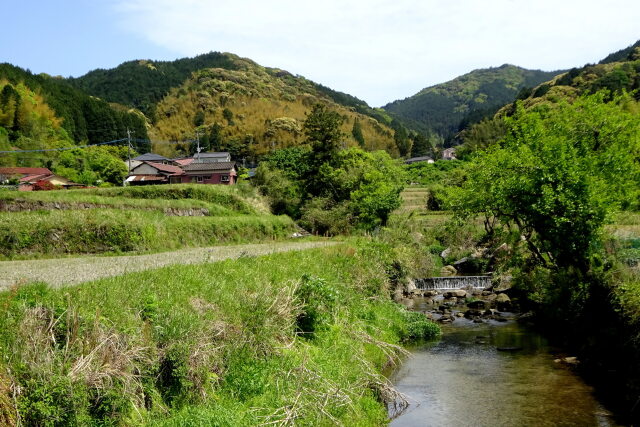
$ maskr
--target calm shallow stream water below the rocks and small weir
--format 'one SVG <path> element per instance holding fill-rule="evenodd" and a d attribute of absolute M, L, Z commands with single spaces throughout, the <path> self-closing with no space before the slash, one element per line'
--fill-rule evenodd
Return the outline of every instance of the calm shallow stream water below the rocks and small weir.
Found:
<path fill-rule="evenodd" d="M 554 361 L 567 355 L 514 318 L 459 318 L 411 350 L 391 377 L 409 400 L 392 426 L 618 425 L 573 368 Z"/>

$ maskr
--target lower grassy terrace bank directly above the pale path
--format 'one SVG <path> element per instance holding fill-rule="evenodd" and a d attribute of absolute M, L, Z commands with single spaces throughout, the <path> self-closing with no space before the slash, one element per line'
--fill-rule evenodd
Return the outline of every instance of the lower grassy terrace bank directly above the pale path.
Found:
<path fill-rule="evenodd" d="M 88 209 L 0 212 L 0 255 L 156 251 L 277 239 L 295 230 L 285 216 L 166 216 L 157 211 Z"/>

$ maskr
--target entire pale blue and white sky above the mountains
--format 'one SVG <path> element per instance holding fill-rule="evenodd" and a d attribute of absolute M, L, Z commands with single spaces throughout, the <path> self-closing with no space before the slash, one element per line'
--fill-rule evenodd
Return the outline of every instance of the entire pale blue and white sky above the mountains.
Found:
<path fill-rule="evenodd" d="M 638 0 L 3 3 L 0 62 L 34 73 L 231 52 L 376 107 L 477 68 L 568 69 L 640 39 Z"/>

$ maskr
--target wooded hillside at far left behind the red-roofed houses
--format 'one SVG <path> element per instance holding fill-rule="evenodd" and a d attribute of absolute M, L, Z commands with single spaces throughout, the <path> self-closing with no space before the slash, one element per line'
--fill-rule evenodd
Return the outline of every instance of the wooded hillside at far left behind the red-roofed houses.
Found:
<path fill-rule="evenodd" d="M 148 138 L 144 115 L 89 96 L 62 78 L 0 64 L 0 166 L 44 166 L 83 184 L 121 184 L 127 130 Z M 121 141 L 74 148 L 114 140 Z M 148 145 L 137 148 L 146 151 Z"/>

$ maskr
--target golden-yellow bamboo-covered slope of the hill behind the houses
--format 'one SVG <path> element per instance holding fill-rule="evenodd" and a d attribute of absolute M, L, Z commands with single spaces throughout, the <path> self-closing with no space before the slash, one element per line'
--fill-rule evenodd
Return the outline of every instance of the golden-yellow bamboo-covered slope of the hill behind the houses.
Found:
<path fill-rule="evenodd" d="M 305 78 L 234 57 L 233 69 L 195 71 L 183 85 L 171 89 L 157 104 L 150 133 L 154 140 L 184 141 L 198 129 L 205 149 L 229 151 L 236 158 L 255 157 L 302 144 L 306 115 L 321 103 L 341 115 L 345 146 L 397 153 L 391 128 L 332 101 L 326 91 L 316 88 Z M 155 148 L 171 154 L 175 144 Z"/>

